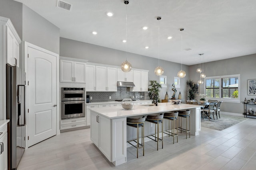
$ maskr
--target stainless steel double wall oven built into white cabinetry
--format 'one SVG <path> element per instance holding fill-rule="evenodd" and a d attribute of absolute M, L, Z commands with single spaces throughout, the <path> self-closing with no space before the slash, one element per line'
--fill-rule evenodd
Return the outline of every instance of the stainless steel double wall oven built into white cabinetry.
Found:
<path fill-rule="evenodd" d="M 85 116 L 85 88 L 61 88 L 61 119 Z"/>

